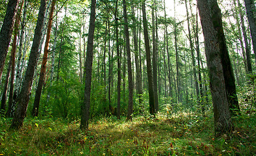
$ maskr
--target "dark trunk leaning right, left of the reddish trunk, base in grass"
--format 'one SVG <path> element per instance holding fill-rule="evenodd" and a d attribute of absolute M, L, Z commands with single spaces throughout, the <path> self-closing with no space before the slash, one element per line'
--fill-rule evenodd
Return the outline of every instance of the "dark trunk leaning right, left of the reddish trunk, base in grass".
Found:
<path fill-rule="evenodd" d="M 42 23 L 44 21 L 44 14 L 46 10 L 46 0 L 41 0 L 39 8 L 39 16 L 37 19 L 37 26 L 35 28 L 35 35 L 33 38 L 33 45 L 31 47 L 31 52 L 29 56 L 29 63 L 27 65 L 27 71 L 25 73 L 25 79 L 22 84 L 22 91 L 20 93 L 20 98 L 18 101 L 17 110 L 14 113 L 14 118 L 12 119 L 12 124 L 10 128 L 19 129 L 22 127 L 25 114 L 27 112 L 27 105 L 29 103 L 29 98 L 31 94 L 31 85 L 33 82 L 33 76 L 35 71 L 35 65 L 37 64 L 37 53 L 39 51 L 40 40 L 42 39 Z"/>

